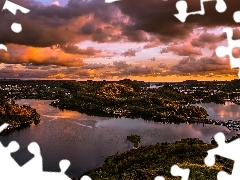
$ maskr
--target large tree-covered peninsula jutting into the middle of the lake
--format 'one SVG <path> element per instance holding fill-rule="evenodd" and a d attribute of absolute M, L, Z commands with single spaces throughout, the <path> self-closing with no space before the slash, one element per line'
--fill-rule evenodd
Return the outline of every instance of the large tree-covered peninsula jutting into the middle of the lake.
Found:
<path fill-rule="evenodd" d="M 187 105 L 193 98 L 171 86 L 148 89 L 144 82 L 122 80 L 119 82 L 69 82 L 62 88 L 71 96 L 60 98 L 52 106 L 77 110 L 89 115 L 125 116 L 153 121 L 201 121 L 207 111 L 199 106 Z"/>

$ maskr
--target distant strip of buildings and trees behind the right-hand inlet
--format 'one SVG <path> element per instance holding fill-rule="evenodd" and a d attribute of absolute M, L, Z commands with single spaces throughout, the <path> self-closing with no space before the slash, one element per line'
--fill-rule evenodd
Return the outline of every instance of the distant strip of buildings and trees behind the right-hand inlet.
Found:
<path fill-rule="evenodd" d="M 197 81 L 186 80 L 176 83 L 150 83 L 149 89 L 158 89 L 168 84 L 177 91 L 191 95 L 197 103 L 231 101 L 240 104 L 240 80 Z"/>

